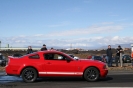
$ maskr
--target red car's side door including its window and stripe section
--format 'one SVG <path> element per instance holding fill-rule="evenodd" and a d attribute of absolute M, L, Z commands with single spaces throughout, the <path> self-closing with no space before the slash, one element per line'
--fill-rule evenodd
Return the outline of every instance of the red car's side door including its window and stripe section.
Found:
<path fill-rule="evenodd" d="M 65 55 L 58 53 L 44 54 L 44 60 L 44 68 L 46 68 L 47 75 L 67 76 L 75 75 L 75 72 L 77 72 L 77 62 Z"/>

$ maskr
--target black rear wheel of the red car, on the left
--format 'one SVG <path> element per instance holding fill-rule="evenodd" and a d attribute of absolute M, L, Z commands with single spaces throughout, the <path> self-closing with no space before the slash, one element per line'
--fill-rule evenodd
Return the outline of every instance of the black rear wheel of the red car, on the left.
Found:
<path fill-rule="evenodd" d="M 37 79 L 37 71 L 34 68 L 25 68 L 22 71 L 22 79 L 24 82 L 32 83 L 35 82 Z"/>

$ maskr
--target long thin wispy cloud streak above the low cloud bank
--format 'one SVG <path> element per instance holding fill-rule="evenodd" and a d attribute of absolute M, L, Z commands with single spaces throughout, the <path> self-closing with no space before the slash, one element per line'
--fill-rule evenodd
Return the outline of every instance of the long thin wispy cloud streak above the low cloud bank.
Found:
<path fill-rule="evenodd" d="M 102 22 L 96 25 L 89 26 L 87 28 L 80 29 L 68 29 L 68 30 L 56 30 L 47 34 L 35 34 L 34 36 L 40 38 L 57 38 L 57 37 L 70 37 L 70 36 L 84 36 L 84 35 L 94 35 L 94 34 L 110 34 L 117 33 L 123 30 L 127 26 L 132 26 L 132 23 L 129 25 L 116 25 L 114 22 Z"/>

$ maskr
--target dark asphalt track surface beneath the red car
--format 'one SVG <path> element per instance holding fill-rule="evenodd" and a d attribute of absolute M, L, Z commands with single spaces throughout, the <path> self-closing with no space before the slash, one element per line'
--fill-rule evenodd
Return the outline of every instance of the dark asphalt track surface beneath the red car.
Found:
<path fill-rule="evenodd" d="M 87 82 L 82 78 L 39 78 L 35 83 L 25 83 L 19 77 L 5 76 L 0 72 L 0 88 L 92 88 L 92 87 L 131 87 L 133 71 L 111 71 L 104 79 Z"/>

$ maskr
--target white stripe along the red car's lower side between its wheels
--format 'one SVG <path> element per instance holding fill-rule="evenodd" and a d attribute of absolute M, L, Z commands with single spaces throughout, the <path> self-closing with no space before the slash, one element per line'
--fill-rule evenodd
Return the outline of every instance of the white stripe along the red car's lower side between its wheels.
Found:
<path fill-rule="evenodd" d="M 39 72 L 39 74 L 82 75 L 83 72 Z"/>

